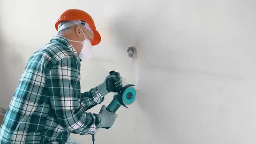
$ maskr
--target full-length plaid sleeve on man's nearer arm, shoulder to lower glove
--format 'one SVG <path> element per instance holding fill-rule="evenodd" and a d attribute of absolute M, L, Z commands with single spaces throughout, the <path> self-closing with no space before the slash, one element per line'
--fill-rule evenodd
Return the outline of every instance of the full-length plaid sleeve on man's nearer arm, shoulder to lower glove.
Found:
<path fill-rule="evenodd" d="M 46 75 L 50 104 L 60 125 L 75 134 L 95 134 L 101 119 L 80 105 L 79 65 L 60 59 Z"/>

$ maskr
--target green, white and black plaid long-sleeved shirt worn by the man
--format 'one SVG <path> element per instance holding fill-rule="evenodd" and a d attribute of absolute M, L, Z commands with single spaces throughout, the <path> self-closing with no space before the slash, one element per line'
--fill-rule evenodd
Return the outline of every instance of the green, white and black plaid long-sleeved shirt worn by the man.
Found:
<path fill-rule="evenodd" d="M 104 100 L 97 87 L 80 93 L 80 58 L 54 36 L 27 62 L 0 128 L 0 144 L 65 144 L 70 133 L 95 134 L 101 119 L 88 109 Z"/>

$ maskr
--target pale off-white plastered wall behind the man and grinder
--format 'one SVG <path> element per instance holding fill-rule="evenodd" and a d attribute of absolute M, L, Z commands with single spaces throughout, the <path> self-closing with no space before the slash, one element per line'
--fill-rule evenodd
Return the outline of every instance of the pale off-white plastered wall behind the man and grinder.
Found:
<path fill-rule="evenodd" d="M 102 35 L 95 57 L 82 62 L 82 90 L 112 69 L 138 89 L 114 127 L 98 131 L 97 144 L 255 144 L 255 7 L 253 0 L 2 0 L 0 105 L 8 106 L 32 52 L 56 33 L 58 16 L 77 8 Z M 128 46 L 138 49 L 137 82 Z M 91 143 L 89 135 L 71 137 Z"/>

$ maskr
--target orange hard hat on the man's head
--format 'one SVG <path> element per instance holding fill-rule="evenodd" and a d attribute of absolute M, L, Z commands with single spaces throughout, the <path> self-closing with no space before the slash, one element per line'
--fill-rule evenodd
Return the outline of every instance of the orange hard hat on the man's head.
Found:
<path fill-rule="evenodd" d="M 101 36 L 98 33 L 98 31 L 96 30 L 96 27 L 95 27 L 94 21 L 92 20 L 92 17 L 85 11 L 77 10 L 77 9 L 66 10 L 64 13 L 61 14 L 61 16 L 59 16 L 59 19 L 55 23 L 55 28 L 57 30 L 58 30 L 59 23 L 64 20 L 83 20 L 83 21 L 85 21 L 86 23 L 89 24 L 89 26 L 92 28 L 92 30 L 94 32 L 92 46 L 98 45 L 98 43 L 101 41 Z"/>

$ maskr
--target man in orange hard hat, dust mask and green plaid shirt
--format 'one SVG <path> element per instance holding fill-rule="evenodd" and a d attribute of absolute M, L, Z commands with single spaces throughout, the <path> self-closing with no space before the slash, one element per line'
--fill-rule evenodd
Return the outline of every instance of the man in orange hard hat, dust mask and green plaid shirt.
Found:
<path fill-rule="evenodd" d="M 65 144 L 70 133 L 95 134 L 117 117 L 105 105 L 98 114 L 85 112 L 122 87 L 116 73 L 80 92 L 80 62 L 90 59 L 92 46 L 101 41 L 92 17 L 66 10 L 55 26 L 58 34 L 26 64 L 0 128 L 0 144 Z"/>

